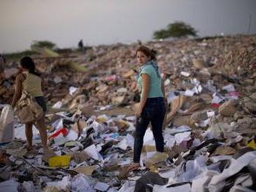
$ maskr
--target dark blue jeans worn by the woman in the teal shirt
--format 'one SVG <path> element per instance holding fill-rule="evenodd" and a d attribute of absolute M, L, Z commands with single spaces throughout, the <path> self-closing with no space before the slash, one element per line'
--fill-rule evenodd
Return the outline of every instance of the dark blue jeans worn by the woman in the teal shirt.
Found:
<path fill-rule="evenodd" d="M 164 152 L 162 124 L 164 122 L 165 111 L 164 98 L 147 98 L 140 118 L 137 118 L 136 120 L 136 132 L 133 147 L 134 163 L 140 162 L 140 153 L 143 146 L 144 135 L 150 122 L 152 125 L 156 149 L 158 152 Z"/>

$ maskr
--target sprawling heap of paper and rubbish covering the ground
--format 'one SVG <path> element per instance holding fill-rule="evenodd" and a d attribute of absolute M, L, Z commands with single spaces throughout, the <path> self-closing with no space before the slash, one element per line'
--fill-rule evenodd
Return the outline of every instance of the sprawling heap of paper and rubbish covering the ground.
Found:
<path fill-rule="evenodd" d="M 49 150 L 26 150 L 24 125 L 5 105 L 14 64 L 1 74 L 0 188 L 22 191 L 256 190 L 256 36 L 149 42 L 158 50 L 169 110 L 164 153 L 144 136 L 133 159 L 135 116 L 108 115 L 137 101 L 136 44 L 36 60 L 47 82 Z M 49 57 L 49 52 L 47 52 Z M 53 54 L 53 52 L 50 52 Z M 76 54 L 76 55 L 75 55 Z M 3 88 L 2 88 L 3 87 Z M 0 91 L 1 92 L 1 91 Z M 4 96 L 3 96 L 4 95 Z M 55 111 L 54 111 L 55 109 Z M 57 111 L 56 111 L 57 110 Z M 106 110 L 99 115 L 96 111 Z M 14 129 L 13 129 L 14 126 Z M 12 132 L 13 130 L 13 132 Z M 15 138 L 13 140 L 13 138 Z"/>

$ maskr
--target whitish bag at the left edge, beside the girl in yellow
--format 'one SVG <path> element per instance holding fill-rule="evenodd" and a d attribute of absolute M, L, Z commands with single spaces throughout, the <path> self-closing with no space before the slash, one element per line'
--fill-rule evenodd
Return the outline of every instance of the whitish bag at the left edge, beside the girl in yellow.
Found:
<path fill-rule="evenodd" d="M 0 117 L 0 143 L 10 142 L 13 139 L 13 109 L 11 105 L 5 105 Z"/>

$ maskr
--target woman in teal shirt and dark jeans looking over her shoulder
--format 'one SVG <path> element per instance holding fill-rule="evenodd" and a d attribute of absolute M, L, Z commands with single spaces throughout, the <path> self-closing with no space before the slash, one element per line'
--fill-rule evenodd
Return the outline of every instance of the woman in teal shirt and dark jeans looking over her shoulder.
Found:
<path fill-rule="evenodd" d="M 137 72 L 137 86 L 140 90 L 140 103 L 135 109 L 136 132 L 133 147 L 133 164 L 129 170 L 140 166 L 140 153 L 143 147 L 144 135 L 151 122 L 157 152 L 164 152 L 162 124 L 166 111 L 164 85 L 157 66 L 156 51 L 147 46 L 139 46 L 136 50 L 140 69 Z"/>

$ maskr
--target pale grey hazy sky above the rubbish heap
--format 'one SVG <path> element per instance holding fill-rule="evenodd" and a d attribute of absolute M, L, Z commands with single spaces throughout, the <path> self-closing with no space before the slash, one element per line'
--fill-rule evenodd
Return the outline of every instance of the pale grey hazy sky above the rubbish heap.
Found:
<path fill-rule="evenodd" d="M 0 53 L 29 49 L 33 40 L 58 47 L 133 43 L 184 21 L 199 36 L 256 33 L 256 0 L 0 0 Z"/>

